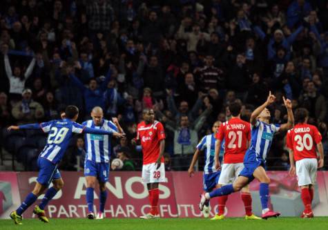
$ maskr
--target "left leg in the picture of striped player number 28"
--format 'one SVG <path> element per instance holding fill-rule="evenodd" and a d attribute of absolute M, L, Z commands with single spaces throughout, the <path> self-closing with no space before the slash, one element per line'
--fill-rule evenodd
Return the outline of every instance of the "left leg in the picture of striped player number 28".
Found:
<path fill-rule="evenodd" d="M 44 193 L 46 188 L 47 188 L 47 186 L 37 182 L 35 184 L 33 191 L 27 195 L 26 199 L 21 204 L 21 206 L 19 206 L 19 208 L 16 211 L 12 211 L 10 213 L 10 218 L 12 218 L 12 220 L 14 220 L 15 224 L 19 224 L 19 225 L 22 224 L 21 223 L 21 220 L 22 220 L 21 214 L 24 211 L 26 211 L 26 209 L 28 209 L 28 207 L 30 207 L 37 200 L 39 195 Z"/>

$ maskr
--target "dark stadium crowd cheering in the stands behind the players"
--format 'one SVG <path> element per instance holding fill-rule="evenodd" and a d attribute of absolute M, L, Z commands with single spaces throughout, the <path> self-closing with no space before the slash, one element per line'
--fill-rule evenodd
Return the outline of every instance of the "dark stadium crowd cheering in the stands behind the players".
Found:
<path fill-rule="evenodd" d="M 293 109 L 309 110 L 328 152 L 327 0 L 5 0 L 0 49 L 1 129 L 57 119 L 69 104 L 83 122 L 101 106 L 126 132 L 113 147 L 126 170 L 141 167 L 130 140 L 143 108 L 164 124 L 166 170 L 186 170 L 200 137 L 231 116 L 231 102 L 243 104 L 249 121 L 269 90 L 277 97 L 272 122 L 287 121 L 286 96 Z M 41 134 L 15 148 L 1 135 L 4 148 L 33 169 L 37 157 L 19 151 L 34 149 Z M 285 133 L 278 135 L 268 166 L 287 170 Z M 83 138 L 68 151 L 61 169 L 83 168 L 83 160 L 76 165 Z"/>

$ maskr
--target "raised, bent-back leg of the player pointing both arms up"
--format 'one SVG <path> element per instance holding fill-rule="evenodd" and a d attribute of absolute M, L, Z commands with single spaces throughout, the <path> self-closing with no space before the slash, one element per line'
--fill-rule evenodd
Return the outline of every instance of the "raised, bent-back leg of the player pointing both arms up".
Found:
<path fill-rule="evenodd" d="M 227 184 L 222 186 L 220 189 L 215 189 L 211 193 L 202 194 L 199 204 L 200 210 L 202 211 L 204 209 L 204 204 L 206 203 L 207 200 L 210 200 L 211 198 L 215 198 L 217 196 L 229 195 L 236 191 L 240 191 L 248 183 L 249 183 L 249 178 L 246 178 L 244 176 L 239 176 L 237 180 L 233 182 L 233 184 Z"/>

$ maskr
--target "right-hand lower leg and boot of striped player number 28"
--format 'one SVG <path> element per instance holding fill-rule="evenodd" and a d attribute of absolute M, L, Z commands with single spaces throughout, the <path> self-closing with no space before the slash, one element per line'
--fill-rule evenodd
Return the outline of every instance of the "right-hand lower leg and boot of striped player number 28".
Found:
<path fill-rule="evenodd" d="M 44 209 L 46 208 L 46 205 L 54 196 L 57 194 L 59 190 L 61 190 L 64 187 L 64 180 L 62 178 L 52 180 L 52 187 L 48 189 L 46 192 L 46 195 L 44 195 L 44 198 L 42 199 L 41 203 L 35 206 L 35 209 L 33 210 L 33 213 L 38 216 L 39 220 L 42 222 L 48 223 L 49 220 L 46 217 L 46 212 Z"/>

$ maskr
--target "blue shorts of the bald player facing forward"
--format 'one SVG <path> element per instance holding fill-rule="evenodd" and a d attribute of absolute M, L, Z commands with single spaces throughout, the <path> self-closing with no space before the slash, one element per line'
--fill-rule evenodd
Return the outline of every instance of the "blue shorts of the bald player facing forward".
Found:
<path fill-rule="evenodd" d="M 99 182 L 107 182 L 109 163 L 96 163 L 90 160 L 84 162 L 84 176 L 96 177 Z"/>

